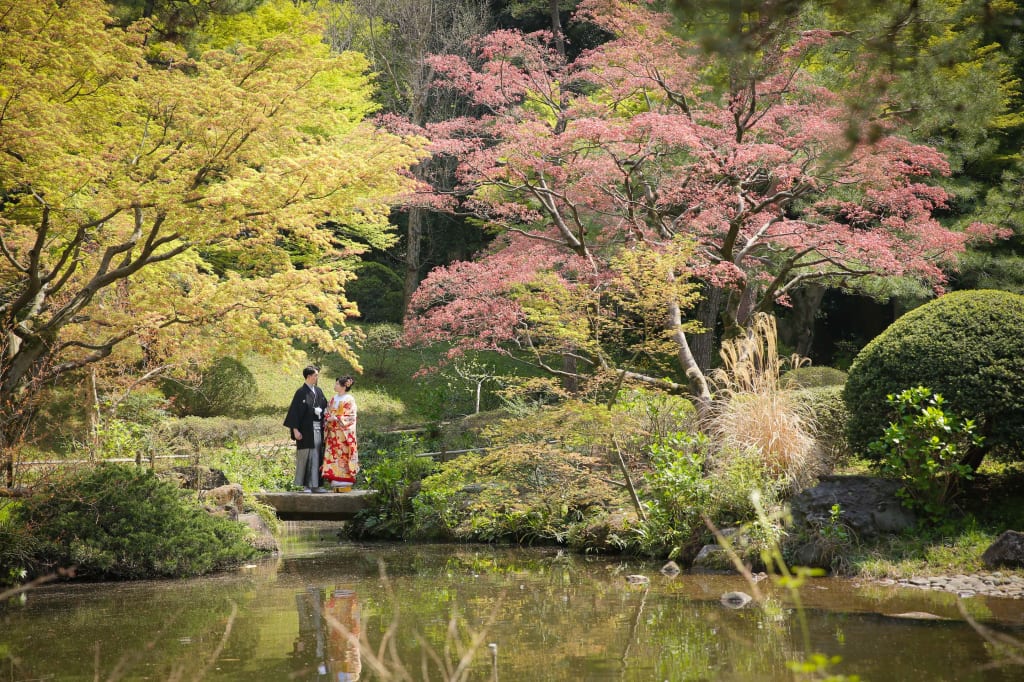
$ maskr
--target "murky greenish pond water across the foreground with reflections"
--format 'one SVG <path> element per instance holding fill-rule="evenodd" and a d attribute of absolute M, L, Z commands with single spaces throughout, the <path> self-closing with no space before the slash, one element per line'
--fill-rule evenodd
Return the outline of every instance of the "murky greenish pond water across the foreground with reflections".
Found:
<path fill-rule="evenodd" d="M 0 682 L 376 680 L 378 665 L 414 680 L 794 680 L 812 679 L 790 668 L 811 653 L 868 681 L 1024 679 L 948 594 L 820 579 L 798 609 L 763 581 L 761 604 L 733 609 L 720 597 L 751 591 L 736 577 L 290 525 L 281 556 L 236 571 L 47 586 L 0 605 Z M 1024 601 L 965 603 L 990 637 L 1024 639 Z M 893 617 L 912 611 L 948 620 Z"/>

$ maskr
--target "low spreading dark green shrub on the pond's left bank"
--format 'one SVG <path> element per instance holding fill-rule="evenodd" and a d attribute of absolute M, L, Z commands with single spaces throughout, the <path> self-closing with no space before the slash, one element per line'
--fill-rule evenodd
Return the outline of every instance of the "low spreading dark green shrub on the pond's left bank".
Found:
<path fill-rule="evenodd" d="M 101 465 L 51 479 L 14 507 L 36 548 L 30 576 L 75 566 L 87 579 L 198 576 L 250 558 L 246 528 L 206 513 L 151 471 Z"/>

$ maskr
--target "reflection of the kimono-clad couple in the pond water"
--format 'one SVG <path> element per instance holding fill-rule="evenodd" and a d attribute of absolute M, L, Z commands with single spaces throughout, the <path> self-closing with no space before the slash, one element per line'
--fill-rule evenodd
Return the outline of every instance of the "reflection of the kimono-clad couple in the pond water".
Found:
<path fill-rule="evenodd" d="M 296 679 L 359 679 L 359 601 L 351 590 L 310 587 L 295 595 L 299 635 L 294 654 L 301 663 Z M 347 631 L 347 632 L 346 632 Z"/>

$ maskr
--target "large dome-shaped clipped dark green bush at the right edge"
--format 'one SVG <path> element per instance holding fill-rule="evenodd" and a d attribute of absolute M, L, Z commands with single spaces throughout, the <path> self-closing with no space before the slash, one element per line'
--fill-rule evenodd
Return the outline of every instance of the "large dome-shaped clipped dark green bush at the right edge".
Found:
<path fill-rule="evenodd" d="M 907 312 L 857 354 L 843 392 L 854 452 L 867 455 L 894 415 L 886 396 L 925 386 L 985 437 L 970 457 L 1024 449 L 1024 296 L 974 290 Z"/>

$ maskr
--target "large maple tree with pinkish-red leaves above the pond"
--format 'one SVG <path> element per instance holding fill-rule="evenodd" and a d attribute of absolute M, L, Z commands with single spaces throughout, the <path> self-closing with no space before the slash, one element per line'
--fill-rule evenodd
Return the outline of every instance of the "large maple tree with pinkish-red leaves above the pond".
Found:
<path fill-rule="evenodd" d="M 478 41 L 475 61 L 432 57 L 478 116 L 426 132 L 436 154 L 458 159 L 462 209 L 505 238 L 426 279 L 414 339 L 507 348 L 536 329 L 517 295 L 531 281 L 555 274 L 597 292 L 624 250 L 680 240 L 688 257 L 662 276 L 716 292 L 714 314 L 738 334 L 808 284 L 899 275 L 941 287 L 943 266 L 975 236 L 935 217 L 948 199 L 935 183 L 949 172 L 940 153 L 882 121 L 851 124 L 840 97 L 815 85 L 803 66 L 826 33 L 798 35 L 716 82 L 715 55 L 648 3 L 585 0 L 577 20 L 613 39 L 567 62 L 547 33 L 499 31 Z M 707 401 L 686 325 L 692 297 L 673 291 L 658 290 L 659 322 Z"/>

